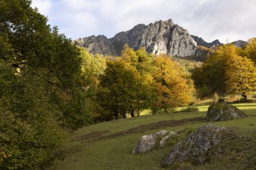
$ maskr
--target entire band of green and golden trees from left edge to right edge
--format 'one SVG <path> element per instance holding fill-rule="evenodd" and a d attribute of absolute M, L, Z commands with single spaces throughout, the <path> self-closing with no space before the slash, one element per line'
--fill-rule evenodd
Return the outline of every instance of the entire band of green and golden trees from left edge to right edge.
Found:
<path fill-rule="evenodd" d="M 255 91 L 255 38 L 243 49 L 224 45 L 188 71 L 127 45 L 119 57 L 94 56 L 30 5 L 0 0 L 0 169 L 39 169 L 71 130 L 88 124 Z"/>

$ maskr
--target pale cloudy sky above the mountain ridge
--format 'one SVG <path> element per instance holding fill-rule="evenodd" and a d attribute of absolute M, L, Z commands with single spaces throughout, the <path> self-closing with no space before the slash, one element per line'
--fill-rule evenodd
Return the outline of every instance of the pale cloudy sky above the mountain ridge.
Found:
<path fill-rule="evenodd" d="M 256 37 L 256 0 L 32 0 L 51 26 L 75 40 L 172 19 L 206 42 Z"/>

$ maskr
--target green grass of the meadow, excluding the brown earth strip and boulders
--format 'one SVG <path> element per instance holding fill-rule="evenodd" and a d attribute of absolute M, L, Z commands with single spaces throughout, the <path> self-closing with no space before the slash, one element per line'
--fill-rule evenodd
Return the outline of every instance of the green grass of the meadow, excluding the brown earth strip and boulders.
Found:
<path fill-rule="evenodd" d="M 238 134 L 247 135 L 250 138 L 253 138 L 253 141 L 256 142 L 256 103 L 237 103 L 234 105 L 243 110 L 249 117 L 226 122 L 211 122 L 211 124 L 225 126 Z M 102 134 L 103 136 L 106 136 L 110 133 L 122 132 L 143 124 L 205 116 L 208 107 L 209 105 L 199 105 L 198 113 L 150 115 L 141 116 L 139 118 L 102 122 L 73 132 L 72 138 L 75 139 L 84 134 L 107 130 L 105 134 Z M 177 132 L 184 128 L 197 128 L 203 124 L 209 124 L 209 122 L 189 122 L 180 126 L 147 130 L 142 133 L 117 136 L 116 138 L 71 140 L 67 142 L 63 148 L 59 148 L 55 151 L 55 154 L 60 155 L 59 161 L 55 161 L 55 164 L 50 167 L 49 170 L 161 169 L 160 162 L 164 158 L 164 155 L 170 151 L 170 146 L 158 148 L 150 153 L 133 155 L 131 152 L 139 137 L 143 134 L 151 134 L 158 130 L 166 129 Z M 226 164 L 226 162 L 223 163 Z M 194 166 L 189 163 L 183 163 L 181 165 L 184 169 L 214 169 L 214 165 L 212 164 Z M 171 167 L 167 167 L 166 169 L 171 169 Z"/>

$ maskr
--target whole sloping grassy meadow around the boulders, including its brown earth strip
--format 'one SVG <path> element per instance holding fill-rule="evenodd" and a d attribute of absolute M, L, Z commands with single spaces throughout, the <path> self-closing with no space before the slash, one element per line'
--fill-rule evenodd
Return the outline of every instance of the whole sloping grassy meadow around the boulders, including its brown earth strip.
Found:
<path fill-rule="evenodd" d="M 174 142 L 169 141 L 163 148 L 156 148 L 149 153 L 134 155 L 131 152 L 140 136 L 152 134 L 159 130 L 174 130 L 197 128 L 203 124 L 216 124 L 230 128 L 238 136 L 248 136 L 251 148 L 241 151 L 253 155 L 256 153 L 256 103 L 234 104 L 247 114 L 247 118 L 226 122 L 205 122 L 209 105 L 199 105 L 196 113 L 174 113 L 166 115 L 148 115 L 139 118 L 127 118 L 102 122 L 81 128 L 71 136 L 71 140 L 63 148 L 55 151 L 55 161 L 46 168 L 48 170 L 102 170 L 102 169 L 162 169 L 160 162 L 170 151 Z M 240 146 L 234 143 L 235 146 Z M 234 155 L 235 153 L 228 153 Z M 246 155 L 246 154 L 245 154 Z M 253 156 L 252 156 L 253 157 Z M 254 155 L 254 158 L 256 155 Z M 181 163 L 181 169 L 238 169 L 239 157 L 228 159 L 228 156 L 214 158 L 207 165 L 191 165 Z M 237 165 L 236 165 L 237 164 Z M 166 167 L 178 169 L 179 165 Z M 256 161 L 248 169 L 254 169 Z"/>

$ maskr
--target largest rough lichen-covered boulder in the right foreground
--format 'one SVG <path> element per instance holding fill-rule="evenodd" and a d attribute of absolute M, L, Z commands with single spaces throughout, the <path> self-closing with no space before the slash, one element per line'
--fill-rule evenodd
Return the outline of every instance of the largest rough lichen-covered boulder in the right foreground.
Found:
<path fill-rule="evenodd" d="M 172 165 L 175 162 L 187 161 L 188 159 L 196 161 L 199 164 L 205 163 L 207 161 L 205 157 L 208 154 L 218 155 L 221 152 L 220 149 L 214 151 L 211 151 L 211 149 L 220 144 L 222 138 L 227 133 L 229 131 L 223 126 L 209 124 L 199 127 L 195 132 L 189 134 L 185 140 L 179 142 L 172 148 L 170 153 L 162 161 L 162 167 Z"/>

